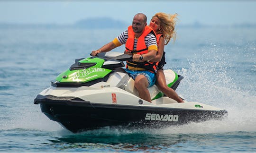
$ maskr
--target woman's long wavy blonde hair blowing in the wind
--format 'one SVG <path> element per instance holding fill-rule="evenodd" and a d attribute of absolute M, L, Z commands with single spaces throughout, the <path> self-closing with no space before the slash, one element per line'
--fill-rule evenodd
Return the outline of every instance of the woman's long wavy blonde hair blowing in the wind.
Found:
<path fill-rule="evenodd" d="M 178 14 L 175 13 L 174 15 L 171 14 L 166 14 L 166 13 L 156 13 L 153 17 L 157 17 L 160 20 L 161 24 L 161 29 L 159 31 L 156 31 L 157 34 L 163 34 L 165 38 L 165 45 L 167 45 L 171 38 L 176 39 L 176 32 L 174 31 L 175 25 L 176 25 L 176 20 Z M 153 18 L 152 17 L 152 18 Z"/>

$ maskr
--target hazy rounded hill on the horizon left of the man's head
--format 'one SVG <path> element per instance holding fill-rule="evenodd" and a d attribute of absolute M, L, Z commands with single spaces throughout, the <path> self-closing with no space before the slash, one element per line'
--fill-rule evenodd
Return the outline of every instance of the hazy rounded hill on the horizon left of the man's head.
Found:
<path fill-rule="evenodd" d="M 110 17 L 96 17 L 96 18 L 94 17 L 94 18 L 86 18 L 86 19 L 79 20 L 74 24 L 74 26 L 79 28 L 110 29 L 110 28 L 125 28 L 125 27 L 128 27 L 129 24 L 119 20 L 114 20 Z"/>

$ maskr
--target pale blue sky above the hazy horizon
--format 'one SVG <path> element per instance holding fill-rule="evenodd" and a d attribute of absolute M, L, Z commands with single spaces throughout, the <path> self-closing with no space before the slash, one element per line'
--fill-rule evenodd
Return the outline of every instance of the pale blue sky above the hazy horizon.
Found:
<path fill-rule="evenodd" d="M 177 13 L 178 23 L 256 24 L 255 0 L 0 0 L 0 23 L 74 24 L 91 17 L 127 23 L 137 13 Z"/>

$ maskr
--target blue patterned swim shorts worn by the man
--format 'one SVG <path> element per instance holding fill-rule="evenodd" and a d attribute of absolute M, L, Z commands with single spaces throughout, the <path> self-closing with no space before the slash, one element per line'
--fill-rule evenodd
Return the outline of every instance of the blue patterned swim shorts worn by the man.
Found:
<path fill-rule="evenodd" d="M 137 70 L 129 70 L 128 68 L 125 68 L 125 71 L 128 73 L 129 76 L 131 76 L 134 80 L 138 75 L 144 75 L 147 78 L 148 87 L 155 84 L 155 73 L 149 72 L 149 71 L 137 71 Z"/>

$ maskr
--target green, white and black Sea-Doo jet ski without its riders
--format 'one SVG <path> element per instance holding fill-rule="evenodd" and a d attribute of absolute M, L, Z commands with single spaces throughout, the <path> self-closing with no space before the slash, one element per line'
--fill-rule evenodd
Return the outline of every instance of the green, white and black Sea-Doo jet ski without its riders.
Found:
<path fill-rule="evenodd" d="M 228 114 L 200 102 L 178 103 L 156 85 L 148 88 L 152 102 L 141 99 L 134 80 L 123 68 L 130 58 L 110 51 L 76 59 L 37 95 L 34 103 L 49 119 L 72 132 L 112 126 L 160 128 L 222 119 Z M 171 69 L 164 73 L 167 85 L 176 90 L 183 76 Z"/>

